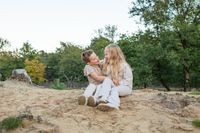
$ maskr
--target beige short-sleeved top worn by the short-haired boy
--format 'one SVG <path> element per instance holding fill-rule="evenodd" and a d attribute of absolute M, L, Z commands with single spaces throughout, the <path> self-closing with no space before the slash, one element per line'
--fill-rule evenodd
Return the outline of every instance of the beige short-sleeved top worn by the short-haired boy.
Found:
<path fill-rule="evenodd" d="M 101 81 L 96 81 L 95 79 L 91 78 L 90 74 L 92 72 L 96 72 L 97 75 L 102 75 L 102 72 L 99 66 L 85 65 L 84 74 L 85 76 L 87 76 L 89 83 L 99 85 Z"/>

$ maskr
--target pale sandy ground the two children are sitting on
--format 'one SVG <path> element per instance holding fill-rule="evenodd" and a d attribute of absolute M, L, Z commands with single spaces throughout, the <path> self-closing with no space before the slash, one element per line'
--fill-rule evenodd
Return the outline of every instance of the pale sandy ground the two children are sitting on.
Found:
<path fill-rule="evenodd" d="M 0 121 L 31 114 L 9 133 L 200 133 L 200 97 L 183 92 L 135 90 L 121 98 L 119 111 L 81 106 L 83 90 L 53 90 L 22 82 L 0 83 Z"/>

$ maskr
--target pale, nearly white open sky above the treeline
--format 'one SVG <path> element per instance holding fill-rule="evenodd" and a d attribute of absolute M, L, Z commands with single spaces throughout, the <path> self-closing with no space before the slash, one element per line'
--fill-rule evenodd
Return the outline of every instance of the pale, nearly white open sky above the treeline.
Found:
<path fill-rule="evenodd" d="M 0 37 L 10 48 L 29 42 L 34 49 L 53 52 L 60 41 L 88 46 L 95 30 L 116 25 L 118 33 L 140 26 L 130 17 L 133 0 L 0 0 Z"/>

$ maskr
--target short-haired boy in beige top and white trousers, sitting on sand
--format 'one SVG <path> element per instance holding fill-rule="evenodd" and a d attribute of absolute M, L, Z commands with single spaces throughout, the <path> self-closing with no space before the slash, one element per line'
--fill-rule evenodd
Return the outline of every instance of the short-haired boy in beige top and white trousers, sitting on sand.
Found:
<path fill-rule="evenodd" d="M 79 105 L 96 106 L 96 101 L 92 97 L 97 88 L 100 88 L 105 76 L 102 75 L 100 69 L 100 61 L 98 56 L 92 50 L 86 50 L 82 53 L 82 60 L 86 63 L 84 74 L 87 76 L 89 85 L 84 94 L 78 98 Z"/>

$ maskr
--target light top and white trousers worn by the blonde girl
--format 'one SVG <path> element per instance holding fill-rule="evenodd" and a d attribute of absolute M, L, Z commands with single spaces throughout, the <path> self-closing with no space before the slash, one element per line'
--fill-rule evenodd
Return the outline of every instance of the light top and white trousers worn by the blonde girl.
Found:
<path fill-rule="evenodd" d="M 111 79 L 105 78 L 101 87 L 97 89 L 97 94 L 95 93 L 97 99 L 103 97 L 103 99 L 108 101 L 109 106 L 115 108 L 119 108 L 120 106 L 119 96 L 127 96 L 132 93 L 133 75 L 132 70 L 127 63 L 122 65 L 119 75 L 121 80 L 118 86 L 115 86 Z"/>

